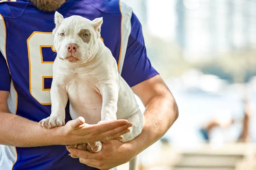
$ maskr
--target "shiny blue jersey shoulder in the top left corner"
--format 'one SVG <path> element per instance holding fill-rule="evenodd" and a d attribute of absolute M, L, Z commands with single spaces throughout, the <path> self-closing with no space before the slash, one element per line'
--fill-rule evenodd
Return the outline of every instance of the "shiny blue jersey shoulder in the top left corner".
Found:
<path fill-rule="evenodd" d="M 20 17 L 26 10 L 27 0 L 4 0 L 0 2 L 0 15 L 6 18 Z"/>

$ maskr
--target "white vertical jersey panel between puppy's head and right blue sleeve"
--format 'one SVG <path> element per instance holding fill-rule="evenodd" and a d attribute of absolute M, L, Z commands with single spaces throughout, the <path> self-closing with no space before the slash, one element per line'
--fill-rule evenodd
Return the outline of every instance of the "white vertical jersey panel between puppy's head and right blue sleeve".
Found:
<path fill-rule="evenodd" d="M 126 5 L 124 2 L 120 1 L 120 11 L 122 13 L 122 46 L 121 46 L 121 55 L 120 55 L 120 62 L 119 62 L 119 74 L 122 73 L 122 67 L 125 60 L 125 53 L 127 49 L 128 39 L 131 34 L 131 15 L 132 15 L 132 8 Z"/>

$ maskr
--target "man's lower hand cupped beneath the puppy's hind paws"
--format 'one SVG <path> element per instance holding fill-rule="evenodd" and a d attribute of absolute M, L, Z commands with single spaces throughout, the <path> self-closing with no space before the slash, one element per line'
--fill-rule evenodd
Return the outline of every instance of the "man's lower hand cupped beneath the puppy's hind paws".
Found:
<path fill-rule="evenodd" d="M 85 151 L 85 145 L 75 148 L 67 147 L 72 158 L 79 158 L 82 164 L 95 167 L 100 170 L 109 170 L 133 159 L 137 152 L 134 145 L 119 140 L 102 142 L 102 150 L 98 153 Z M 87 147 L 88 148 L 88 147 Z"/>

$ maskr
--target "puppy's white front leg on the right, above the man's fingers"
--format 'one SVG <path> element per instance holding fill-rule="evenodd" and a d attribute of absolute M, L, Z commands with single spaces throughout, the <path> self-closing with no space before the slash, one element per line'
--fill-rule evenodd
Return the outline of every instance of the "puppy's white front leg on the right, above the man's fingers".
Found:
<path fill-rule="evenodd" d="M 116 120 L 119 85 L 117 83 L 103 85 L 100 92 L 102 95 L 101 122 Z"/>

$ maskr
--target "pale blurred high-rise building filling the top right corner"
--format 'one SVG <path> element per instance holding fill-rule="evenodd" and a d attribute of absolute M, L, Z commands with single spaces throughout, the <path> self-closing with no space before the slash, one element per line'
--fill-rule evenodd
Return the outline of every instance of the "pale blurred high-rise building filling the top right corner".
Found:
<path fill-rule="evenodd" d="M 255 0 L 177 0 L 176 11 L 177 42 L 188 60 L 255 48 Z"/>

